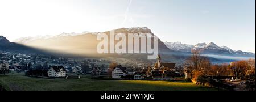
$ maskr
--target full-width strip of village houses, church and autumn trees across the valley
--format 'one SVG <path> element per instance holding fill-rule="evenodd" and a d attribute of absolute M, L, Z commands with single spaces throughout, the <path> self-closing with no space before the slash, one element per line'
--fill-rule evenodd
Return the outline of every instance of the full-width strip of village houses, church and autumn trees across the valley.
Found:
<path fill-rule="evenodd" d="M 202 58 L 192 54 L 192 58 Z M 193 60 L 183 66 L 163 62 L 161 55 L 153 63 L 135 59 L 73 59 L 65 57 L 0 53 L 0 74 L 23 73 L 28 78 L 73 80 L 86 76 L 90 80 L 147 80 L 186 81 L 199 86 L 218 87 L 224 90 L 255 90 L 255 60 L 232 62 L 229 65 L 212 65 L 209 60 L 195 69 Z M 246 68 L 246 69 L 245 69 Z M 240 73 L 236 73 L 240 70 Z"/>

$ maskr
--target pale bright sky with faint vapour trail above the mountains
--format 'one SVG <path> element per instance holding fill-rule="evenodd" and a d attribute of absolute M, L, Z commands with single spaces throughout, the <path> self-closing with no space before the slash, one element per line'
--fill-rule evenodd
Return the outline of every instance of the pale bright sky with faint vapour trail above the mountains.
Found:
<path fill-rule="evenodd" d="M 255 0 L 0 0 L 0 35 L 10 41 L 122 27 L 255 53 Z"/>

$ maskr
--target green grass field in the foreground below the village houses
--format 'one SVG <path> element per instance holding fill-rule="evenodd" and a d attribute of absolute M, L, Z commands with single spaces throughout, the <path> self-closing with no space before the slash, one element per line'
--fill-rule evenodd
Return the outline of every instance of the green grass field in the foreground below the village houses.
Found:
<path fill-rule="evenodd" d="M 141 80 L 92 80 L 29 78 L 24 73 L 0 76 L 0 85 L 11 91 L 215 91 L 215 88 L 196 86 L 191 82 Z"/>

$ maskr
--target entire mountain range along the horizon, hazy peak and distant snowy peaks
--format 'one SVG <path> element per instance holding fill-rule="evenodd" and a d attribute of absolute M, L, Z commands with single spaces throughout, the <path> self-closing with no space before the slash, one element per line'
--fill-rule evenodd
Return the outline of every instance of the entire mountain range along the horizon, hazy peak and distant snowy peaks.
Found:
<path fill-rule="evenodd" d="M 114 30 L 115 33 L 150 33 L 151 29 L 147 27 L 133 27 L 133 28 L 119 28 Z M 14 42 L 8 41 L 5 37 L 0 37 L 0 50 L 8 50 L 13 52 L 23 53 L 49 53 L 51 50 L 53 54 L 65 54 L 65 55 L 79 55 L 86 57 L 119 57 L 119 58 L 136 58 L 147 59 L 144 54 L 98 54 L 97 35 L 99 33 L 110 34 L 110 31 L 106 32 L 82 32 L 82 33 L 61 33 L 56 36 L 36 36 L 36 37 L 23 37 L 14 40 Z M 115 42 L 117 43 L 117 42 Z M 7 47 L 12 45 L 11 49 Z M 14 46 L 15 45 L 15 46 Z M 141 45 L 141 44 L 139 44 Z M 28 47 L 29 46 L 29 47 Z M 15 49 L 19 48 L 19 49 Z M 22 48 L 22 49 L 20 49 Z M 42 50 L 44 49 L 44 52 Z M 29 52 L 28 52 L 28 51 Z M 182 44 L 181 42 L 163 42 L 159 39 L 159 54 L 162 55 L 162 59 L 168 62 L 181 62 L 184 61 L 191 51 L 199 50 L 201 53 L 210 55 L 209 58 L 213 62 L 222 63 L 238 60 L 239 58 L 255 58 L 254 53 L 234 51 L 226 46 L 217 46 L 213 42 L 210 44 L 200 43 L 197 45 Z M 217 57 L 216 57 L 217 56 Z M 221 57 L 220 57 L 221 56 Z M 239 57 L 239 58 L 230 58 Z"/>

